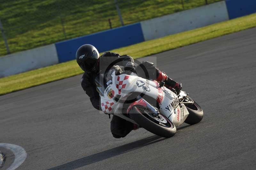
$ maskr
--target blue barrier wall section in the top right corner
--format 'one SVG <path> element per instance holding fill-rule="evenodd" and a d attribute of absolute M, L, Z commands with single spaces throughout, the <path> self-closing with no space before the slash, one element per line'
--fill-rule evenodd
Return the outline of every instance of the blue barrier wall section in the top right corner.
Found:
<path fill-rule="evenodd" d="M 256 12 L 256 0 L 226 0 L 229 19 Z"/>

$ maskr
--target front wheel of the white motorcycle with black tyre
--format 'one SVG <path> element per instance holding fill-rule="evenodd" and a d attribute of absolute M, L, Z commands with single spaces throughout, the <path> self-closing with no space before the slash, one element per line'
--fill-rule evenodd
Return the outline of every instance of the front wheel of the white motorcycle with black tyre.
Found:
<path fill-rule="evenodd" d="M 138 107 L 141 108 L 141 106 Z M 136 123 L 138 123 L 140 127 L 148 130 L 149 132 L 155 135 L 162 136 L 165 138 L 169 138 L 175 135 L 175 125 L 161 113 L 159 113 L 159 118 L 163 118 L 163 120 L 165 119 L 166 123 L 161 123 L 160 121 L 153 119 L 145 111 L 139 111 L 136 106 L 133 106 L 131 110 L 132 113 L 129 114 L 130 118 L 134 120 Z"/>

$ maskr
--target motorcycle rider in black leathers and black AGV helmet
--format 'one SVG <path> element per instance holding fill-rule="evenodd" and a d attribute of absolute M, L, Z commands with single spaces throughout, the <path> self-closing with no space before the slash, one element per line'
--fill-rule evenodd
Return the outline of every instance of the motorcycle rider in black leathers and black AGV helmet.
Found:
<path fill-rule="evenodd" d="M 105 52 L 101 56 L 98 50 L 91 44 L 84 44 L 76 51 L 76 62 L 80 68 L 84 71 L 81 79 L 81 85 L 85 93 L 90 97 L 90 101 L 93 107 L 100 110 L 100 95 L 96 90 L 95 77 L 105 70 L 113 61 L 119 60 L 118 65 L 113 66 L 117 73 L 122 73 L 122 69 L 119 66 L 124 66 L 125 71 L 137 72 L 138 76 L 147 78 L 145 75 L 140 73 L 139 69 L 136 69 L 134 60 L 131 56 L 122 55 L 114 52 Z M 115 63 L 115 62 L 114 62 Z M 147 69 L 149 79 L 156 81 L 164 81 L 164 86 L 168 89 L 175 89 L 177 93 L 182 88 L 181 83 L 177 83 L 169 78 L 164 72 L 160 71 L 154 66 L 153 63 L 143 61 L 140 67 Z M 138 67 L 138 66 L 137 66 Z M 115 138 L 125 137 L 132 130 L 138 129 L 138 125 L 135 125 L 127 120 L 124 120 L 118 116 L 113 115 L 110 122 L 110 130 Z"/>

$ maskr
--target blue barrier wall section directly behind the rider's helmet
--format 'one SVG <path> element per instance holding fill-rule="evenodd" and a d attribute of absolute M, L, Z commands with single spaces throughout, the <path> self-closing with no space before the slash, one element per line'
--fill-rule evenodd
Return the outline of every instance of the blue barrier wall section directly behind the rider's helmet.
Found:
<path fill-rule="evenodd" d="M 104 52 L 143 41 L 141 25 L 136 23 L 55 43 L 55 46 L 61 63 L 75 59 L 76 50 L 83 44 L 92 44 L 99 52 Z"/>

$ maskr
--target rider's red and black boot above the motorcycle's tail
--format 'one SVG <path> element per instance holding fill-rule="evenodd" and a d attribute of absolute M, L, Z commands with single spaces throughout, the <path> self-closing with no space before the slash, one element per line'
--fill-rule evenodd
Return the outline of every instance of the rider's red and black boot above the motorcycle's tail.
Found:
<path fill-rule="evenodd" d="M 182 88 L 182 84 L 178 83 L 174 80 L 172 80 L 171 78 L 169 78 L 164 72 L 159 70 L 159 74 L 156 78 L 156 81 L 164 81 L 164 86 L 167 87 L 168 89 L 172 90 L 175 89 L 175 91 L 177 92 L 177 94 L 180 93 L 180 90 Z"/>

